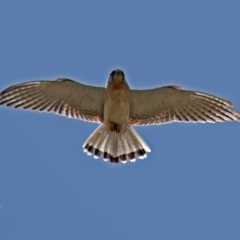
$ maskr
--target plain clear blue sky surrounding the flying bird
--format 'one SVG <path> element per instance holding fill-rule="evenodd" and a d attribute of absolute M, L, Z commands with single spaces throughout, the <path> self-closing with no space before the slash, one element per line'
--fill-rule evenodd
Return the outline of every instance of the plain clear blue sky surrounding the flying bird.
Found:
<path fill-rule="evenodd" d="M 0 90 L 68 77 L 180 85 L 240 110 L 239 1 L 1 1 Z M 146 160 L 82 152 L 96 124 L 0 107 L 1 239 L 240 239 L 240 124 L 137 127 Z"/>

